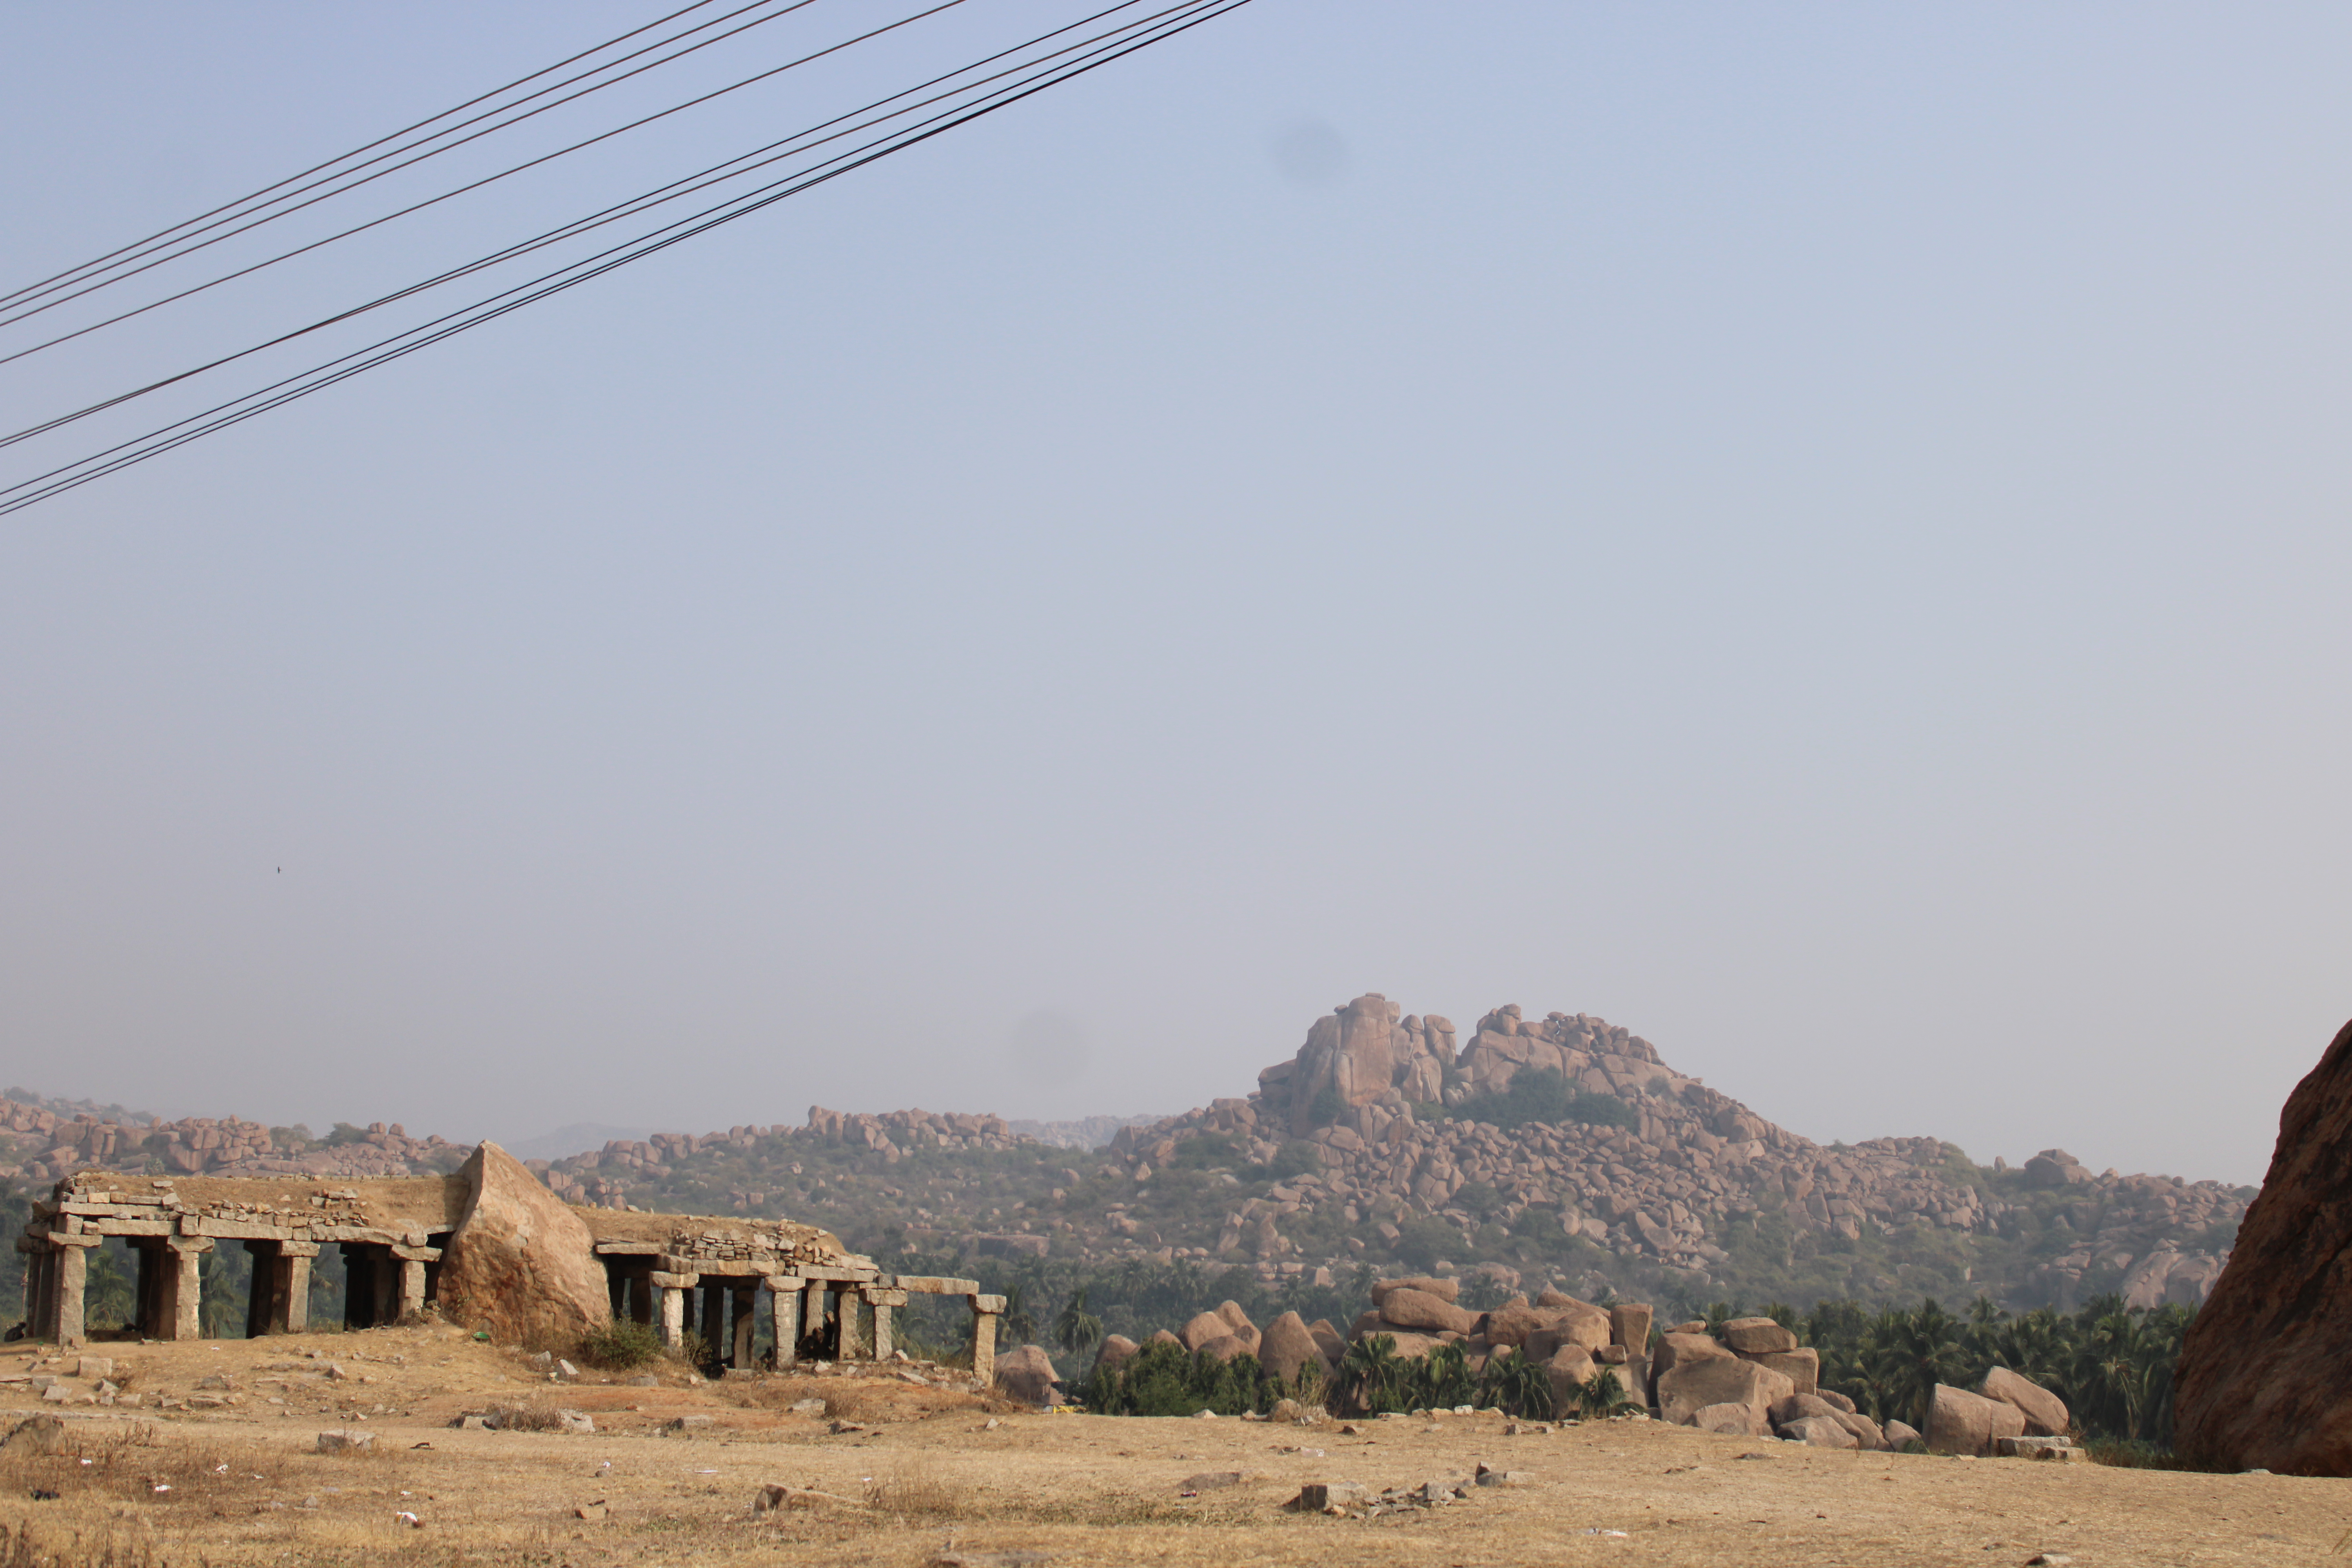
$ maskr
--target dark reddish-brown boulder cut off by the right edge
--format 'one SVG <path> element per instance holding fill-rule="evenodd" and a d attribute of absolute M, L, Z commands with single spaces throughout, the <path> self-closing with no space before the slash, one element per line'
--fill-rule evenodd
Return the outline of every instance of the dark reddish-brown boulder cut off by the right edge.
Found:
<path fill-rule="evenodd" d="M 2279 1112 L 2237 1246 L 2190 1324 L 2173 1448 L 2197 1469 L 2352 1476 L 2352 1023 Z"/>

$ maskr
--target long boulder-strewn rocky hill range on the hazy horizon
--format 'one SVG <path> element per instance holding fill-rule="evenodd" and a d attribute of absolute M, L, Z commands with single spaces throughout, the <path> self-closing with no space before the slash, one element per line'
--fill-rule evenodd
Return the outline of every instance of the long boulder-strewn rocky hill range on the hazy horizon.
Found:
<path fill-rule="evenodd" d="M 80 1164 L 214 1175 L 449 1171 L 400 1126 L 146 1121 L 0 1100 L 0 1180 Z M 1108 1124 L 1108 1119 L 1101 1119 Z M 2197 1302 L 2251 1187 L 2091 1173 L 2063 1150 L 1978 1166 L 1933 1138 L 1818 1145 L 1583 1013 L 1503 1006 L 1458 1044 L 1369 994 L 1319 1018 L 1249 1095 L 1080 1150 L 1000 1117 L 814 1107 L 800 1126 L 612 1140 L 529 1161 L 574 1204 L 755 1213 L 861 1251 L 1247 1269 L 1329 1284 L 1364 1265 L 1559 1281 L 1644 1300 Z"/>

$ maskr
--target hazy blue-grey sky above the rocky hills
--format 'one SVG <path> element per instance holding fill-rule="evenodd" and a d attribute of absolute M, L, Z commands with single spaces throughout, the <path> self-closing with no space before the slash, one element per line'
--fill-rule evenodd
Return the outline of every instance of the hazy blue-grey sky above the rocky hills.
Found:
<path fill-rule="evenodd" d="M 656 9 L 7 7 L 0 287 Z M 0 414 L 1084 9 L 971 0 Z M 0 517 L 0 1077 L 1127 1114 L 1381 990 L 1606 1016 L 1823 1140 L 2258 1180 L 2352 1013 L 2347 54 L 2340 5 L 1258 0 Z"/>

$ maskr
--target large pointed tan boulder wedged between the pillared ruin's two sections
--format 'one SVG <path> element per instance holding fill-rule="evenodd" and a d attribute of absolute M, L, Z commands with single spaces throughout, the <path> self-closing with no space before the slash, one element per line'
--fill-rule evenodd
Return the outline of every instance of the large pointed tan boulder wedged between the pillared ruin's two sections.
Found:
<path fill-rule="evenodd" d="M 588 1222 L 494 1143 L 459 1175 L 466 1213 L 442 1251 L 442 1312 L 513 1345 L 569 1345 L 607 1328 L 612 1286 Z"/>

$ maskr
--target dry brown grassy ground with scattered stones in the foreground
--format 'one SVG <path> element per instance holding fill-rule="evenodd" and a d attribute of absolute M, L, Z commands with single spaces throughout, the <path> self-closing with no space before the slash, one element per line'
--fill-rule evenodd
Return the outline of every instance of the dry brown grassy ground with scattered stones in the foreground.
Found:
<path fill-rule="evenodd" d="M 2352 1561 L 2352 1483 L 1818 1453 L 1651 1422 L 1505 1436 L 1494 1415 L 1277 1427 L 997 1413 L 898 1380 L 762 1378 L 550 1389 L 513 1352 L 449 1328 L 209 1345 L 96 1345 L 139 1410 L 66 1406 L 71 1448 L 0 1448 L 0 1526 L 73 1561 L 169 1563 L 929 1563 L 943 1552 L 1089 1563 L 2074 1563 Z M 313 1359 L 308 1352 L 318 1352 Z M 327 1380 L 334 1363 L 348 1378 Z M 0 1375 L 26 1354 L 0 1356 Z M 275 1368 L 275 1371 L 273 1371 Z M 245 1403 L 155 1410 L 207 1373 Z M 793 1415 L 830 1396 L 835 1415 Z M 588 1410 L 593 1436 L 459 1432 L 489 1403 Z M 285 1401 L 285 1403 L 270 1403 Z M 40 1406 L 0 1385 L 0 1422 Z M 365 1420 L 360 1420 L 365 1415 Z M 668 1420 L 715 1427 L 666 1436 Z M 376 1434 L 369 1455 L 313 1453 L 320 1429 Z M 1312 1453 L 1322 1450 L 1322 1453 Z M 1743 1458 L 1764 1455 L 1764 1458 Z M 87 1460 L 87 1462 L 85 1462 Z M 1374 1488 L 1461 1479 L 1526 1486 L 1392 1519 L 1298 1516 L 1305 1481 Z M 1237 1488 L 1181 1495 L 1240 1469 Z M 753 1514 L 762 1483 L 833 1493 Z M 61 1493 L 33 1502 L 31 1490 Z M 167 1488 L 167 1490 L 158 1490 Z M 602 1505 L 602 1519 L 574 1509 Z M 590 1512 L 595 1512 L 590 1507 Z M 409 1526 L 400 1514 L 414 1514 Z M 1623 1530 L 1623 1535 L 1616 1535 Z M 0 1542 L 0 1568 L 16 1568 Z M 1021 1559 L 1014 1559 L 1021 1561 Z"/>

